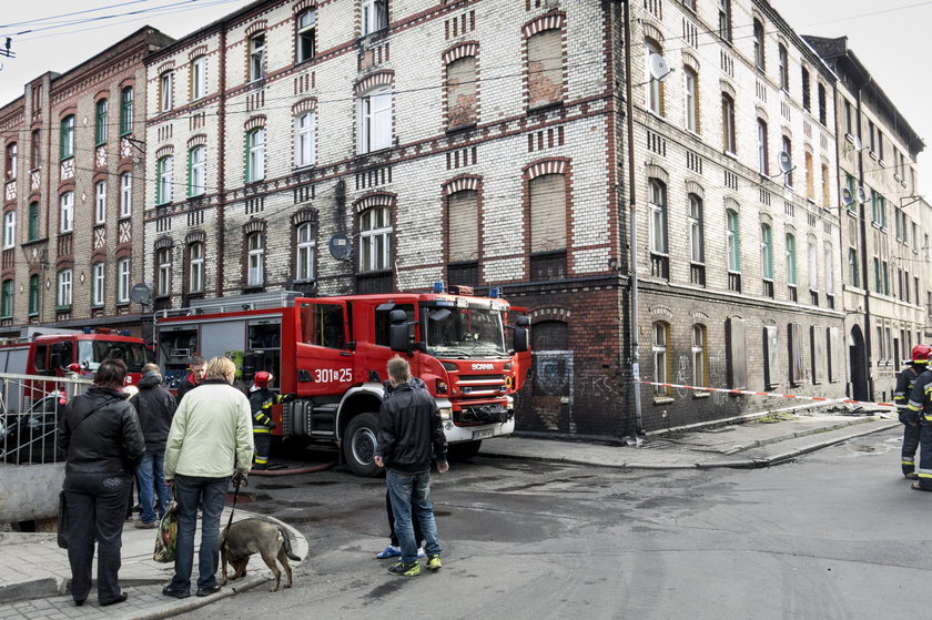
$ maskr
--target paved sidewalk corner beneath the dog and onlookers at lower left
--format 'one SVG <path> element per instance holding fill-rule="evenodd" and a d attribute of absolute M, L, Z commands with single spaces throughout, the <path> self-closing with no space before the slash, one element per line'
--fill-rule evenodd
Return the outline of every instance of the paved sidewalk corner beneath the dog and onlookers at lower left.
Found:
<path fill-rule="evenodd" d="M 253 515 L 236 508 L 234 521 L 250 517 L 270 517 Z M 229 508 L 221 518 L 221 527 L 230 518 Z M 280 521 L 281 522 L 281 521 Z M 292 539 L 296 556 L 307 557 L 307 541 L 294 528 L 284 525 Z M 200 528 L 199 528 L 200 530 Z M 195 546 L 201 539 L 197 531 Z M 120 585 L 129 594 L 126 602 L 111 607 L 100 607 L 97 602 L 97 586 L 91 588 L 88 602 L 74 607 L 68 586 L 71 569 L 68 552 L 59 549 L 54 533 L 0 533 L 0 619 L 1 620 L 64 620 L 81 618 L 85 620 L 153 620 L 170 618 L 211 602 L 232 597 L 237 592 L 265 586 L 271 579 L 262 559 L 255 556 L 250 562 L 250 572 L 243 579 L 230 581 L 216 594 L 199 598 L 192 591 L 186 599 L 173 599 L 162 594 L 162 588 L 174 573 L 174 563 L 152 561 L 155 543 L 155 530 L 136 529 L 132 522 L 123 528 L 123 565 L 120 569 Z M 296 569 L 301 562 L 290 562 Z M 194 556 L 196 577 L 197 556 Z M 93 575 L 97 577 L 97 562 Z M 284 575 L 282 576 L 284 582 Z"/>

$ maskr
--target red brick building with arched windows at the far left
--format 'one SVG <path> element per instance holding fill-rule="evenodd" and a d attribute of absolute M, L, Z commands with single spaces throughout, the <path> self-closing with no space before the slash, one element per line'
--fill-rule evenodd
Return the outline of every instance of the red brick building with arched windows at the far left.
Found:
<path fill-rule="evenodd" d="M 141 333 L 142 61 L 170 40 L 142 28 L 0 108 L 3 335 L 48 323 Z"/>

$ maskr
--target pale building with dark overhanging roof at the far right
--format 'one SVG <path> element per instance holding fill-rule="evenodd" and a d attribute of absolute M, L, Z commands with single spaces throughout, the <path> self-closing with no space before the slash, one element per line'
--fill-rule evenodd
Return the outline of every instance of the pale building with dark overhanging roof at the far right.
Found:
<path fill-rule="evenodd" d="M 890 400 L 902 360 L 932 309 L 932 212 L 916 195 L 925 149 L 847 38 L 806 37 L 838 75 L 835 125 L 842 187 L 841 247 L 850 393 Z"/>

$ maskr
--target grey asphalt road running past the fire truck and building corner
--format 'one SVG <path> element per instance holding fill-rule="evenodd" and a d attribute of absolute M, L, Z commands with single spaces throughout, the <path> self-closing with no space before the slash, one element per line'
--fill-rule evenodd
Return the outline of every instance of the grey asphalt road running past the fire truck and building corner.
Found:
<path fill-rule="evenodd" d="M 630 449 L 630 448 L 621 448 Z M 230 618 L 878 619 L 926 617 L 932 494 L 900 437 L 770 469 L 621 471 L 476 458 L 434 477 L 437 573 L 398 578 L 384 481 L 253 479 L 250 510 L 307 537 L 295 588 L 197 610 Z M 259 558 L 252 568 L 264 569 Z M 194 614 L 191 614 L 193 618 Z"/>

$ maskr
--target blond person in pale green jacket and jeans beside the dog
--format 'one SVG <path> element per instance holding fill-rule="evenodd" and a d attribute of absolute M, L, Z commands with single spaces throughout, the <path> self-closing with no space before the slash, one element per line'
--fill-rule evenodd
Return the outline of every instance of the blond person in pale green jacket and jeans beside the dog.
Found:
<path fill-rule="evenodd" d="M 214 357 L 206 378 L 179 404 L 165 447 L 165 484 L 178 501 L 175 573 L 162 589 L 168 597 L 191 596 L 194 530 L 199 506 L 201 548 L 197 557 L 197 596 L 220 591 L 216 569 L 220 553 L 220 515 L 230 477 L 249 474 L 253 458 L 250 402 L 232 386 L 233 362 Z"/>

